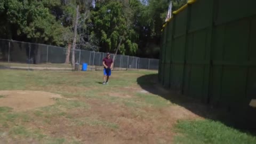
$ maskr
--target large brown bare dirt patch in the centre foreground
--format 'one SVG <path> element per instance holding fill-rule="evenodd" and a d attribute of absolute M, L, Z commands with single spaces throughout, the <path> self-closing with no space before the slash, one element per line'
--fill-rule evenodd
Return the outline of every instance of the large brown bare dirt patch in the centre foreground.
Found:
<path fill-rule="evenodd" d="M 199 117 L 180 106 L 165 108 L 127 108 L 117 103 L 101 100 L 86 100 L 91 109 L 69 111 L 74 117 L 51 118 L 51 124 L 44 124 L 44 132 L 51 137 L 74 137 L 82 143 L 172 143 L 173 124 L 179 119 L 198 119 Z M 101 125 L 76 125 L 74 119 L 93 117 L 103 122 L 118 125 L 117 129 L 110 129 Z M 39 121 L 34 121 L 36 125 Z M 36 124 L 37 123 L 37 124 Z"/>

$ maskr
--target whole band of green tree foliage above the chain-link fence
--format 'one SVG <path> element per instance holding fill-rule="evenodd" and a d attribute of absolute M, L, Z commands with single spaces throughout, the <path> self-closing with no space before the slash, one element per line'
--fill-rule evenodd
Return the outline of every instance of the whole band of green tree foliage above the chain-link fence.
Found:
<path fill-rule="evenodd" d="M 173 10 L 186 0 L 172 0 Z M 157 58 L 166 0 L 0 0 L 0 38 Z M 92 4 L 95 4 L 95 7 Z"/>

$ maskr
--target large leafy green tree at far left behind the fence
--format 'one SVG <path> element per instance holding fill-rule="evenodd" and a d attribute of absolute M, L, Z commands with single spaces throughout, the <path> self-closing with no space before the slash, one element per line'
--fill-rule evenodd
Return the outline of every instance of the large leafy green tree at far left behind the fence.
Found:
<path fill-rule="evenodd" d="M 0 15 L 2 38 L 63 45 L 59 35 L 64 28 L 41 1 L 3 0 L 0 2 Z M 27 57 L 30 55 L 35 63 L 39 63 L 40 52 L 38 47 L 33 47 Z"/>

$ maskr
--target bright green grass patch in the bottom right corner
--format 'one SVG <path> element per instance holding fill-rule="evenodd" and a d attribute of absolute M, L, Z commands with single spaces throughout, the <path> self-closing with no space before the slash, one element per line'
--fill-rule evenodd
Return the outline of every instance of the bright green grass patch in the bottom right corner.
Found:
<path fill-rule="evenodd" d="M 175 138 L 175 143 L 256 143 L 256 138 L 252 135 L 210 120 L 180 121 L 175 127 L 179 132 Z"/>

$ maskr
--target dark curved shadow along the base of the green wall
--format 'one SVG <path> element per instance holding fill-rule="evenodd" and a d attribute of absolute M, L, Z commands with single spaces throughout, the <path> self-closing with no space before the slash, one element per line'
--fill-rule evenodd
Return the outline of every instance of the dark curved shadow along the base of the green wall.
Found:
<path fill-rule="evenodd" d="M 246 112 L 234 113 L 225 108 L 213 108 L 210 105 L 203 104 L 199 100 L 164 89 L 163 86 L 158 83 L 157 79 L 157 74 L 144 75 L 137 78 L 137 83 L 142 89 L 184 107 L 198 116 L 212 119 L 213 121 L 219 121 L 229 127 L 234 127 L 237 130 L 248 132 L 256 136 L 256 109 L 248 107 Z"/>

